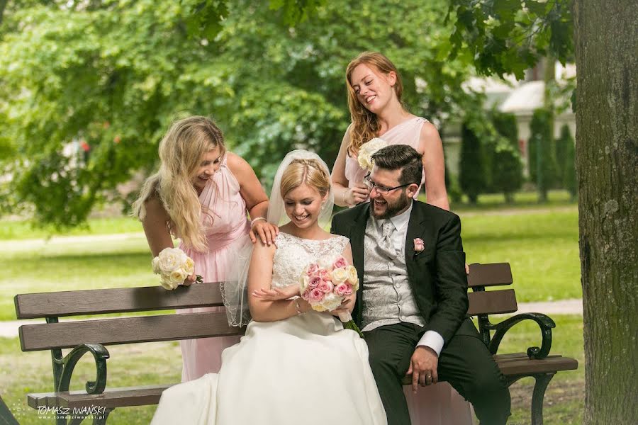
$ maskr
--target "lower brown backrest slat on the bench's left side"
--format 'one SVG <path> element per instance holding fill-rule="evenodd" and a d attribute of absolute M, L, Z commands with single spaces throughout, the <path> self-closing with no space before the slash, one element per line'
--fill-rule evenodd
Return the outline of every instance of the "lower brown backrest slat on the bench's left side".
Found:
<path fill-rule="evenodd" d="M 38 351 L 91 343 L 114 345 L 239 335 L 243 330 L 228 326 L 225 312 L 202 312 L 24 324 L 18 331 L 22 351 Z"/>

